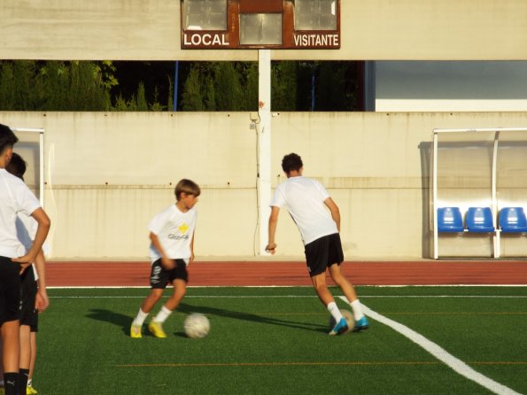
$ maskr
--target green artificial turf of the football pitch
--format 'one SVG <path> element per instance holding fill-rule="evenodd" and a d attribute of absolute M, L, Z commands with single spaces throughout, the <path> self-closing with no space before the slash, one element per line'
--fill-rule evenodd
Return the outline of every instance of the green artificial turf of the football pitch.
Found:
<path fill-rule="evenodd" d="M 372 310 L 527 393 L 527 288 L 357 290 Z M 308 287 L 190 288 L 165 323 L 166 339 L 146 328 L 132 339 L 129 325 L 147 292 L 50 290 L 38 334 L 39 393 L 491 393 L 380 322 L 329 337 L 329 314 Z M 190 312 L 211 321 L 205 339 L 184 336 Z"/>

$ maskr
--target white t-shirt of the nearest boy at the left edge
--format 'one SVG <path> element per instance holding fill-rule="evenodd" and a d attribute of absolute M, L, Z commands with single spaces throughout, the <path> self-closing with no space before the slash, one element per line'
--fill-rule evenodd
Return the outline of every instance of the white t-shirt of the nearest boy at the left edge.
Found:
<path fill-rule="evenodd" d="M 0 255 L 16 258 L 25 254 L 17 236 L 17 213 L 30 216 L 40 202 L 27 185 L 4 168 L 0 169 Z"/>

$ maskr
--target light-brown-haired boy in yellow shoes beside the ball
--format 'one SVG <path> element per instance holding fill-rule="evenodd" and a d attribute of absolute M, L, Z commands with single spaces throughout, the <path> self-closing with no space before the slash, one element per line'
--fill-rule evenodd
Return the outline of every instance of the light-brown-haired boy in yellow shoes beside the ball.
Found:
<path fill-rule="evenodd" d="M 170 205 L 157 214 L 148 225 L 151 239 L 151 291 L 144 298 L 132 322 L 130 337 L 142 337 L 144 320 L 163 296 L 167 284 L 171 283 L 174 287 L 172 296 L 148 325 L 153 336 L 167 337 L 163 322 L 180 304 L 187 290 L 187 265 L 194 260 L 194 230 L 197 219 L 194 205 L 198 203 L 201 191 L 196 182 L 183 179 L 175 186 L 174 193 L 175 205 Z"/>

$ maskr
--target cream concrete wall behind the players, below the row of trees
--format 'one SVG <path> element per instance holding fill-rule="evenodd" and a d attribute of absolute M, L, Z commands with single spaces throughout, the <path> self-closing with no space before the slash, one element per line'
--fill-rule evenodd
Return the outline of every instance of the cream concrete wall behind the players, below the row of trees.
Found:
<path fill-rule="evenodd" d="M 203 188 L 197 254 L 254 254 L 248 112 L 0 112 L 0 122 L 45 128 L 53 258 L 145 257 L 147 223 L 174 202 L 182 177 Z M 527 112 L 282 112 L 272 122 L 273 187 L 283 181 L 283 155 L 298 152 L 305 175 L 320 179 L 341 209 L 347 259 L 420 258 L 430 256 L 432 129 L 524 127 Z M 527 201 L 526 189 L 515 190 L 521 196 Z M 280 256 L 303 254 L 286 213 L 277 244 Z"/>

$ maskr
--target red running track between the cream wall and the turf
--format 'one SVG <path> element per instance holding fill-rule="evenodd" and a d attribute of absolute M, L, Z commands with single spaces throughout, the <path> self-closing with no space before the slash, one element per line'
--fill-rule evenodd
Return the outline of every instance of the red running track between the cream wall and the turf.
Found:
<path fill-rule="evenodd" d="M 343 272 L 354 285 L 527 285 L 525 260 L 350 261 Z M 195 261 L 190 286 L 311 285 L 304 262 Z M 149 262 L 48 262 L 50 287 L 148 286 Z M 329 284 L 332 284 L 328 276 Z"/>

